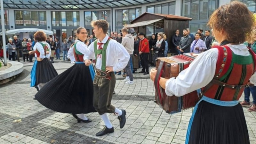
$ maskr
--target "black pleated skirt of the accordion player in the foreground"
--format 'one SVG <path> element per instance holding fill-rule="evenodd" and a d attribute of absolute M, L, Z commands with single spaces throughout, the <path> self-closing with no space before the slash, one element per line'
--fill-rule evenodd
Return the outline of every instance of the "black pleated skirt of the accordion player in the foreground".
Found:
<path fill-rule="evenodd" d="M 249 144 L 241 104 L 220 106 L 201 101 L 194 115 L 188 143 Z"/>

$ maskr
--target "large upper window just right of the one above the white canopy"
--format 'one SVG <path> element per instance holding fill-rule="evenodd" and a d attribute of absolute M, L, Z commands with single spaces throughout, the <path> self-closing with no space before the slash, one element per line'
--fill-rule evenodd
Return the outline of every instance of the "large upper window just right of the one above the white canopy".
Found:
<path fill-rule="evenodd" d="M 52 26 L 80 26 L 79 11 L 52 11 Z"/>

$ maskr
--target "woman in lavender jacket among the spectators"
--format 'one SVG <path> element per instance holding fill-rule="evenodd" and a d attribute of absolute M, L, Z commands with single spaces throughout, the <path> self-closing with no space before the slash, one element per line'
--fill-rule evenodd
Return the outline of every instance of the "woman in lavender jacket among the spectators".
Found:
<path fill-rule="evenodd" d="M 200 33 L 196 32 L 195 40 L 190 45 L 190 52 L 194 54 L 200 54 L 204 52 L 207 47 L 203 40 L 200 39 Z"/>

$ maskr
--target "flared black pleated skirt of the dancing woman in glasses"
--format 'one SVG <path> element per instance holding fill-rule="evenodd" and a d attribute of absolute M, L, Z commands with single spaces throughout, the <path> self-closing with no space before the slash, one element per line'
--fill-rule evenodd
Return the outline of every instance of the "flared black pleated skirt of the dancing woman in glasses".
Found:
<path fill-rule="evenodd" d="M 84 64 L 75 64 L 53 78 L 35 97 L 39 103 L 56 112 L 96 112 L 92 105 L 92 77 L 89 67 Z"/>

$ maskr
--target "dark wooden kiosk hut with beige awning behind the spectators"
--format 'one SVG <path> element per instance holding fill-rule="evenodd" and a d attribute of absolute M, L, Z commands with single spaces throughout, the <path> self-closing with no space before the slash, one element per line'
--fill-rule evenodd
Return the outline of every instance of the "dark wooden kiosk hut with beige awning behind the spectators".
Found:
<path fill-rule="evenodd" d="M 169 52 L 173 53 L 172 36 L 175 34 L 176 29 L 179 29 L 180 36 L 183 36 L 183 29 L 188 28 L 189 20 L 192 20 L 192 18 L 145 12 L 132 20 L 130 25 L 124 25 L 124 27 L 133 27 L 137 33 L 146 33 L 148 39 L 151 38 L 153 33 L 163 32 L 167 37 L 168 47 L 171 49 Z"/>

